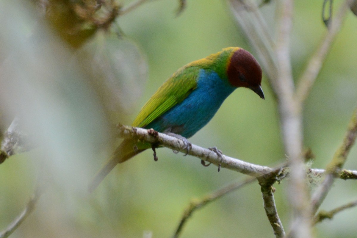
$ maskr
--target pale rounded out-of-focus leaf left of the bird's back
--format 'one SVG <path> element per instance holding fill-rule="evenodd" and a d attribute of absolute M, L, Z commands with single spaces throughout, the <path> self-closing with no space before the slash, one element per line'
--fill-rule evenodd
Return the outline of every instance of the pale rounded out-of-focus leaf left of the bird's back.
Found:
<path fill-rule="evenodd" d="M 94 79 L 107 108 L 129 112 L 147 79 L 147 62 L 134 42 L 104 31 L 76 52 L 84 71 Z"/>

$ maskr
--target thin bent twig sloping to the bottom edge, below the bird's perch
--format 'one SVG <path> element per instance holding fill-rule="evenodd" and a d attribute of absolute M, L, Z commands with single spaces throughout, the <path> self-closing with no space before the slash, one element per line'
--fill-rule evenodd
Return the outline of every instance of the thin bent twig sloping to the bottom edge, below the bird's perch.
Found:
<path fill-rule="evenodd" d="M 178 226 L 176 228 L 176 231 L 175 231 L 175 234 L 174 234 L 173 238 L 177 238 L 177 237 L 180 236 L 180 234 L 182 232 L 182 229 L 183 229 L 183 226 L 187 222 L 187 219 L 190 218 L 192 216 L 192 213 L 194 211 L 196 211 L 198 208 L 202 208 L 205 205 L 207 205 L 208 203 L 213 202 L 216 199 L 226 195 L 227 193 L 232 192 L 232 191 L 234 191 L 234 190 L 236 190 L 238 188 L 241 188 L 241 187 L 245 186 L 246 184 L 251 183 L 251 182 L 253 182 L 255 180 L 256 180 L 256 177 L 251 177 L 251 178 L 246 179 L 243 182 L 232 183 L 232 184 L 230 184 L 230 185 L 228 185 L 226 187 L 223 187 L 223 188 L 219 189 L 218 191 L 216 191 L 216 192 L 214 192 L 212 194 L 209 194 L 209 195 L 205 196 L 201 200 L 191 201 L 190 205 L 188 205 L 188 207 L 185 209 L 185 212 L 183 213 L 183 216 L 182 216 L 182 218 L 180 220 L 180 223 L 178 224 Z"/>

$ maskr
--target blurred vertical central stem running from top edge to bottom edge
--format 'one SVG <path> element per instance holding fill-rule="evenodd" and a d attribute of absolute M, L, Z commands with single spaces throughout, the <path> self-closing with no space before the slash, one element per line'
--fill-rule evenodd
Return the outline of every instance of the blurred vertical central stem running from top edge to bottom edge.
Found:
<path fill-rule="evenodd" d="M 302 115 L 294 100 L 294 82 L 290 60 L 290 35 L 292 30 L 293 1 L 281 1 L 278 16 L 276 57 L 278 76 L 276 77 L 277 97 L 281 119 L 283 142 L 290 162 L 288 200 L 294 217 L 287 237 L 311 237 L 308 190 L 305 183 L 305 168 L 302 159 Z"/>

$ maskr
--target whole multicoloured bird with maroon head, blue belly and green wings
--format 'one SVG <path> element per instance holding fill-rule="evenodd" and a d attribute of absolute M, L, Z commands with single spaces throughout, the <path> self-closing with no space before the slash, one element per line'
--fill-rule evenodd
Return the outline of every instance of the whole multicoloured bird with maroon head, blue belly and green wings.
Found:
<path fill-rule="evenodd" d="M 154 129 L 186 140 L 215 115 L 238 87 L 249 88 L 264 99 L 262 69 L 254 56 L 228 47 L 178 69 L 141 108 L 133 127 Z M 118 163 L 151 148 L 148 142 L 124 139 L 90 183 L 93 191 Z"/>

